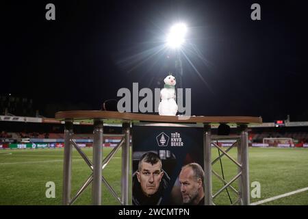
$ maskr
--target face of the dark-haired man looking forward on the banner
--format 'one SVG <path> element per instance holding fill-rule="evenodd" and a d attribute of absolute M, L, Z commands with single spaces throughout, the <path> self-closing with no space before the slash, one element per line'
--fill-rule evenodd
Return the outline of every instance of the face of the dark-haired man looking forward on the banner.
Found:
<path fill-rule="evenodd" d="M 137 172 L 137 178 L 140 182 L 142 192 L 146 196 L 151 196 L 157 192 L 159 183 L 162 180 L 164 172 L 161 171 L 161 163 L 150 164 L 142 162 L 140 172 Z"/>

